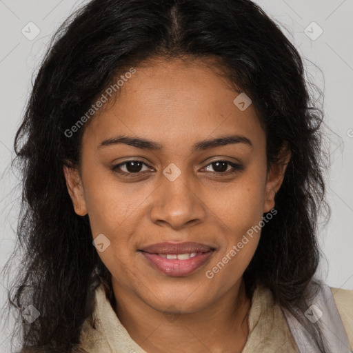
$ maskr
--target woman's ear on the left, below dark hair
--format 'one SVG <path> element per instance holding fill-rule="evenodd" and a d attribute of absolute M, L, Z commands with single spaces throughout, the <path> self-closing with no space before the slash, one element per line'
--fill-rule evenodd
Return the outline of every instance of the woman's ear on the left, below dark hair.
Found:
<path fill-rule="evenodd" d="M 79 214 L 79 216 L 85 216 L 85 214 L 87 214 L 85 192 L 83 190 L 81 177 L 79 176 L 79 171 L 77 168 L 71 168 L 63 165 L 63 174 L 66 179 L 66 186 L 68 188 L 72 204 L 74 205 L 74 212 Z"/>

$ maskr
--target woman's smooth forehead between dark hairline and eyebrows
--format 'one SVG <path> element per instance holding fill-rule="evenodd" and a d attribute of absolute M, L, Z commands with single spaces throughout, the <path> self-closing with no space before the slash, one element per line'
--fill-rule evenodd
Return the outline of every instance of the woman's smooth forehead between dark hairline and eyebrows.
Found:
<path fill-rule="evenodd" d="M 85 140 L 98 145 L 128 134 L 180 144 L 230 132 L 261 139 L 253 105 L 239 109 L 234 99 L 241 92 L 219 75 L 212 61 L 150 61 L 135 70 L 114 104 L 92 119 Z"/>

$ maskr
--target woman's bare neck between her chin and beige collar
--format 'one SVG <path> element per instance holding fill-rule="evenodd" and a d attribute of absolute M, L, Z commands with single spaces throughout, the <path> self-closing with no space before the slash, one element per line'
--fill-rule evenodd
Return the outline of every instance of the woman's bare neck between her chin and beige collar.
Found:
<path fill-rule="evenodd" d="M 177 308 L 161 312 L 127 293 L 112 280 L 115 312 L 119 320 L 145 352 L 241 352 L 249 333 L 251 301 L 240 279 L 216 302 L 192 313 Z M 119 295 L 118 295 L 119 294 Z"/>

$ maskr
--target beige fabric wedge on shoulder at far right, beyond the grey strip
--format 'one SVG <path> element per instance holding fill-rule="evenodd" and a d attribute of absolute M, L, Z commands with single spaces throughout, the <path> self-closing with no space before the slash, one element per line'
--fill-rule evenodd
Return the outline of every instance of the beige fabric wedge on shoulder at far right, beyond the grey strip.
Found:
<path fill-rule="evenodd" d="M 353 290 L 330 287 L 353 350 Z"/>

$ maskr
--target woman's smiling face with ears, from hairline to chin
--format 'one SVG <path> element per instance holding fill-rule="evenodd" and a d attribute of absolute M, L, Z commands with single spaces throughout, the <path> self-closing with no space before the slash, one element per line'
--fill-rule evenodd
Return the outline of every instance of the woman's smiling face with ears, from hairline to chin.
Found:
<path fill-rule="evenodd" d="M 81 179 L 64 168 L 68 189 L 77 214 L 88 213 L 118 293 L 161 312 L 196 312 L 241 283 L 260 232 L 246 243 L 243 236 L 274 207 L 284 170 L 267 175 L 265 132 L 253 105 L 246 108 L 243 96 L 234 103 L 239 93 L 200 61 L 135 69 L 116 103 L 85 128 Z M 149 142 L 114 143 L 119 137 Z M 225 138 L 232 139 L 217 142 Z M 141 251 L 186 241 L 206 248 Z"/>

